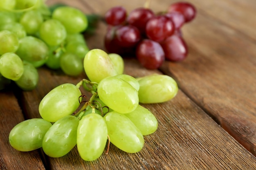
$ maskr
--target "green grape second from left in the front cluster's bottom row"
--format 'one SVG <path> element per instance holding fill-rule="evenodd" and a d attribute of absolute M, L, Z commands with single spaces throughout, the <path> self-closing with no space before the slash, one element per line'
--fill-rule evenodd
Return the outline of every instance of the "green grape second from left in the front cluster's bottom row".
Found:
<path fill-rule="evenodd" d="M 56 121 L 43 138 L 43 151 L 49 157 L 62 157 L 76 145 L 79 119 L 68 115 Z"/>

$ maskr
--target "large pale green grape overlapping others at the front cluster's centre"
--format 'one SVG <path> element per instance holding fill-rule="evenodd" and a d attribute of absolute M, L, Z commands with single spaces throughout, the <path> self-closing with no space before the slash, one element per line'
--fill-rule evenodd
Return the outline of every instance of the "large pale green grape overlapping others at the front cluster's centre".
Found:
<path fill-rule="evenodd" d="M 106 77 L 101 80 L 97 92 L 103 103 L 119 113 L 130 113 L 139 104 L 138 91 L 117 77 Z"/>

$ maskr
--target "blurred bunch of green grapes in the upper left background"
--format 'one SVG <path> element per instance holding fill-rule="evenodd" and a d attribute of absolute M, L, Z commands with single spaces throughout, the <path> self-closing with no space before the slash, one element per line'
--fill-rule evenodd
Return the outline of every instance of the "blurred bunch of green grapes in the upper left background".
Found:
<path fill-rule="evenodd" d="M 44 64 L 70 76 L 82 73 L 87 27 L 86 15 L 73 7 L 50 10 L 44 0 L 1 0 L 0 90 L 11 81 L 34 89 L 36 68 Z"/>

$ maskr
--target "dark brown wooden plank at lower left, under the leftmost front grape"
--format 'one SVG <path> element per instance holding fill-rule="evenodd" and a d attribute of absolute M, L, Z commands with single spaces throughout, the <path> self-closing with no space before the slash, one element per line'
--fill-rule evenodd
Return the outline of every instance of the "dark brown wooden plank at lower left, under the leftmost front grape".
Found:
<path fill-rule="evenodd" d="M 12 91 L 0 91 L 0 169 L 44 170 L 38 150 L 20 152 L 9 144 L 9 132 L 24 120 L 22 111 Z"/>

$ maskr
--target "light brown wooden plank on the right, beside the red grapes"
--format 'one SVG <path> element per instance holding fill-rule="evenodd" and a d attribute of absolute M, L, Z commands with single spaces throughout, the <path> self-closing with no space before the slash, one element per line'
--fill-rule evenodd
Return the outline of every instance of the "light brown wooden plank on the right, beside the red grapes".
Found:
<path fill-rule="evenodd" d="M 162 71 L 175 76 L 191 99 L 256 155 L 256 44 L 200 13 L 184 28 L 184 38 L 189 57 L 166 62 Z"/>

